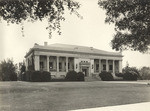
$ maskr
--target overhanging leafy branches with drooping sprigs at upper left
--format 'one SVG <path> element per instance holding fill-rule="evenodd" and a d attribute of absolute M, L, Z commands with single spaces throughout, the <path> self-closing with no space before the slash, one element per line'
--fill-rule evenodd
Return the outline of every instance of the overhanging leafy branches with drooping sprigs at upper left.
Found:
<path fill-rule="evenodd" d="M 73 0 L 0 0 L 0 18 L 7 23 L 21 24 L 22 33 L 24 21 L 35 22 L 47 18 L 46 29 L 51 37 L 53 30 L 61 34 L 60 22 L 65 20 L 65 8 L 80 17 L 77 12 L 79 7 L 80 4 Z"/>

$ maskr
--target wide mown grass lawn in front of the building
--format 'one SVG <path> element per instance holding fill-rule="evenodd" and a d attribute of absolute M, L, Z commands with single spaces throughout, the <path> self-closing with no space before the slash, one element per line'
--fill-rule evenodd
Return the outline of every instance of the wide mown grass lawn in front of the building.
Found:
<path fill-rule="evenodd" d="M 150 102 L 150 86 L 112 82 L 0 82 L 0 111 L 66 111 Z"/>

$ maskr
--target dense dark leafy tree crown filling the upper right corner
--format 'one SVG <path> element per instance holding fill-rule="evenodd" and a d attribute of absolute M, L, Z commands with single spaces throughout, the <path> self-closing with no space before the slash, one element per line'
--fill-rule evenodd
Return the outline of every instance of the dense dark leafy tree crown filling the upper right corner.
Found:
<path fill-rule="evenodd" d="M 142 53 L 150 49 L 150 0 L 99 0 L 106 23 L 114 23 L 112 48 Z"/>

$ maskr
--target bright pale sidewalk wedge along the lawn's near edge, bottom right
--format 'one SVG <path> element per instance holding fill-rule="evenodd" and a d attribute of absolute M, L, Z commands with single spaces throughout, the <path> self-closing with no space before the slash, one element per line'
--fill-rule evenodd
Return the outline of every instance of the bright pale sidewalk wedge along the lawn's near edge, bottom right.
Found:
<path fill-rule="evenodd" d="M 89 108 L 89 109 L 78 109 L 70 111 L 150 111 L 150 102 Z"/>

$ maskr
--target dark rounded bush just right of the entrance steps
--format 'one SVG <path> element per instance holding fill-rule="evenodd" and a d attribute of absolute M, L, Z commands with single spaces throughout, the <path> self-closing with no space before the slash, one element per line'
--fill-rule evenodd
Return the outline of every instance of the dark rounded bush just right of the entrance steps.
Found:
<path fill-rule="evenodd" d="M 99 74 L 102 81 L 112 81 L 114 80 L 112 74 L 110 72 L 101 72 Z"/>

